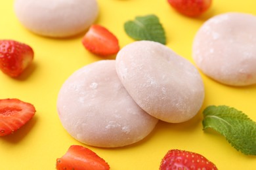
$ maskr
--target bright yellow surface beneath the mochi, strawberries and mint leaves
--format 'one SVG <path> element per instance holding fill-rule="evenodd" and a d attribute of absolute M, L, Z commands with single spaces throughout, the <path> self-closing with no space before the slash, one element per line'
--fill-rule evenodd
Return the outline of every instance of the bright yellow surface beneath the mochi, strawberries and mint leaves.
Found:
<path fill-rule="evenodd" d="M 83 48 L 83 35 L 50 39 L 26 30 L 14 15 L 13 2 L 0 3 L 0 39 L 30 44 L 35 51 L 35 59 L 20 78 L 13 79 L 0 72 L 0 98 L 30 102 L 37 112 L 22 129 L 1 137 L 0 169 L 55 169 L 56 158 L 60 158 L 70 145 L 81 144 L 70 137 L 60 124 L 56 112 L 58 91 L 75 70 L 104 58 Z M 169 7 L 167 0 L 98 0 L 98 4 L 100 14 L 96 24 L 112 31 L 121 47 L 133 42 L 123 29 L 127 20 L 156 14 L 166 31 L 167 46 L 190 61 L 192 40 L 205 20 L 229 11 L 256 14 L 254 0 L 213 0 L 211 9 L 200 18 L 178 14 Z M 256 86 L 236 88 L 219 84 L 203 74 L 202 77 L 205 101 L 192 120 L 182 124 L 159 122 L 146 139 L 131 146 L 111 149 L 87 147 L 104 158 L 113 170 L 158 169 L 161 158 L 173 148 L 198 152 L 219 169 L 256 169 L 255 156 L 245 156 L 236 151 L 218 133 L 202 131 L 202 110 L 208 105 L 229 105 L 256 121 Z"/>

